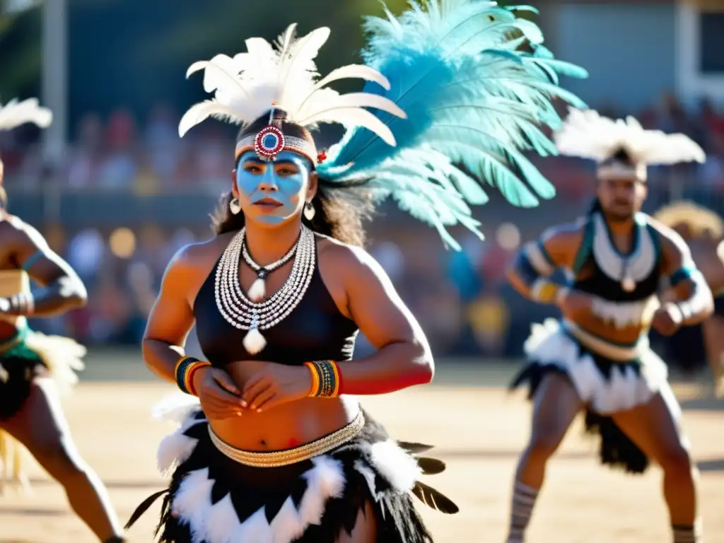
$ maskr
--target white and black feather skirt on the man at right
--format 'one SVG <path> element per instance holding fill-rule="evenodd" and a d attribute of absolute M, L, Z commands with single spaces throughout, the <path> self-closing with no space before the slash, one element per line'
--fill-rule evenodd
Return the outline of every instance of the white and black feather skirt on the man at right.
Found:
<path fill-rule="evenodd" d="M 544 325 L 534 326 L 526 342 L 526 355 L 529 362 L 515 376 L 511 389 L 528 384 L 532 400 L 547 374 L 566 376 L 586 403 L 586 433 L 598 434 L 601 438 L 601 463 L 627 473 L 647 470 L 647 455 L 610 415 L 643 405 L 657 392 L 673 398 L 666 381 L 666 367 L 653 351 L 631 361 L 610 360 L 581 344 L 551 319 Z"/>

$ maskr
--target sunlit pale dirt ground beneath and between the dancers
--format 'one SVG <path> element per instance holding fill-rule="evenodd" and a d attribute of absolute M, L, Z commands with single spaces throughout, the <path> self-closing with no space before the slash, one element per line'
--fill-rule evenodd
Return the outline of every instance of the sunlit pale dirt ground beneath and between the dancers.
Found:
<path fill-rule="evenodd" d="M 162 383 L 84 383 L 66 401 L 77 445 L 109 487 L 122 521 L 163 488 L 155 447 L 170 428 L 149 409 L 172 387 Z M 702 471 L 707 542 L 724 541 L 724 405 L 686 400 L 685 424 Z M 421 507 L 438 543 L 502 542 L 510 481 L 529 428 L 529 405 L 502 388 L 420 387 L 364 405 L 400 439 L 437 445 L 447 471 L 426 480 L 450 495 L 457 515 Z M 578 423 L 579 424 L 579 423 Z M 662 543 L 670 541 L 660 471 L 633 478 L 598 466 L 595 443 L 574 427 L 547 472 L 529 533 L 536 543 Z M 0 497 L 0 542 L 84 543 L 94 539 L 66 505 L 62 489 L 33 466 L 32 495 Z M 130 531 L 149 543 L 160 500 Z"/>

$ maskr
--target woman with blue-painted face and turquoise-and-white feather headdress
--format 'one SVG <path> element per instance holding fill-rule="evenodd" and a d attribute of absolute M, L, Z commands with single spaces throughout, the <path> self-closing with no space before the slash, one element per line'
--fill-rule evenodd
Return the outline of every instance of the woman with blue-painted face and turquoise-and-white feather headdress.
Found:
<path fill-rule="evenodd" d="M 508 9 L 450 4 L 372 20 L 368 65 L 319 83 L 313 59 L 327 28 L 295 41 L 292 25 L 277 49 L 252 38 L 248 53 L 190 69 L 205 69 L 216 99 L 193 106 L 180 131 L 209 115 L 240 122 L 237 167 L 216 237 L 173 259 L 148 321 L 146 362 L 198 403 L 159 448 L 161 469 L 173 470 L 169 489 L 140 505 L 129 525 L 164 492 L 161 541 L 174 543 L 427 542 L 410 492 L 458 511 L 418 481 L 445 468 L 410 454 L 429 447 L 392 441 L 343 396 L 385 394 L 433 375 L 423 332 L 360 248 L 361 191 L 392 195 L 451 245 L 445 226 L 476 230 L 466 199 L 481 203 L 484 193 L 439 151 L 488 173 L 516 203 L 535 198 L 502 156 L 550 193 L 515 149 L 523 127 L 534 143 L 545 140 L 529 119 L 552 120 L 547 93 L 557 88 L 541 68 L 548 57 L 512 52 L 505 36 L 531 29 Z M 504 83 L 494 83 L 503 72 Z M 366 92 L 322 88 L 342 77 L 368 80 Z M 316 122 L 357 128 L 326 156 L 308 131 Z M 184 355 L 194 322 L 209 361 Z M 352 360 L 358 330 L 378 351 Z"/>

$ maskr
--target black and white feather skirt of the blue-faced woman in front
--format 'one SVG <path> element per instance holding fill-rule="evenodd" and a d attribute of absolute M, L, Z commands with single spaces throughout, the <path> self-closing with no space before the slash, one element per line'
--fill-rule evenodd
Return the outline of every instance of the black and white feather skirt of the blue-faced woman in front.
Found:
<path fill-rule="evenodd" d="M 140 504 L 127 528 L 164 494 L 160 543 L 334 543 L 353 531 L 368 503 L 376 541 L 427 543 L 432 536 L 412 494 L 443 513 L 458 511 L 417 480 L 445 469 L 440 460 L 411 454 L 429 447 L 393 442 L 369 417 L 357 437 L 332 452 L 278 468 L 231 460 L 211 442 L 208 425 L 197 408 L 164 438 L 159 468 L 172 471 L 171 484 Z"/>

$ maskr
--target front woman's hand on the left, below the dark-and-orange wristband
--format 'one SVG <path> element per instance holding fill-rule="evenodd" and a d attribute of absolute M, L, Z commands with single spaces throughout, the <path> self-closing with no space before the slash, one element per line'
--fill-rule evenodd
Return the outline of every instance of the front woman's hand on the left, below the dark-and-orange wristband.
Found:
<path fill-rule="evenodd" d="M 193 374 L 193 388 L 207 418 L 221 420 L 241 416 L 241 393 L 226 371 L 206 366 Z"/>

